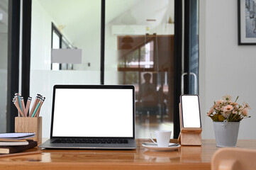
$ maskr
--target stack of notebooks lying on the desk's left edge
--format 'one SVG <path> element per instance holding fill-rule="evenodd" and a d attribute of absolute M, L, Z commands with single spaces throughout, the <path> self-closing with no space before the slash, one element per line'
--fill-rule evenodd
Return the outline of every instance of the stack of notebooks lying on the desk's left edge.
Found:
<path fill-rule="evenodd" d="M 36 147 L 38 142 L 28 140 L 35 133 L 0 133 L 0 154 L 12 154 Z"/>

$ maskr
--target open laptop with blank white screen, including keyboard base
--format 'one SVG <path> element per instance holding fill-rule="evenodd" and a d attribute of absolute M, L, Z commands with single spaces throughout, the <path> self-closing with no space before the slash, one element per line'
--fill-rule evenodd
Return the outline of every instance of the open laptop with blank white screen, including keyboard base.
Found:
<path fill-rule="evenodd" d="M 55 85 L 50 140 L 53 149 L 135 149 L 132 85 Z"/>

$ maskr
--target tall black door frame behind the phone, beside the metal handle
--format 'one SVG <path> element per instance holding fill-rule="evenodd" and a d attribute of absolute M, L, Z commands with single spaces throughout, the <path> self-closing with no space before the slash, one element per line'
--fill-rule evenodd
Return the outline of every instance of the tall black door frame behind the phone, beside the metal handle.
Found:
<path fill-rule="evenodd" d="M 183 4 L 182 4 L 183 3 Z M 179 137 L 180 125 L 179 125 L 179 97 L 182 94 L 181 91 L 181 81 L 182 81 L 182 42 L 184 45 L 184 72 L 190 75 L 190 60 L 191 60 L 191 37 L 194 35 L 195 30 L 191 27 L 192 20 L 195 16 L 194 8 L 198 3 L 198 0 L 174 0 L 174 80 L 176 81 L 174 86 L 174 138 Z M 182 10 L 184 6 L 184 11 Z M 184 17 L 184 25 L 182 23 L 182 17 Z M 184 35 L 182 31 L 184 28 Z M 184 37 L 183 37 L 184 36 Z M 184 94 L 190 94 L 189 86 L 191 85 L 191 77 L 184 77 Z"/>

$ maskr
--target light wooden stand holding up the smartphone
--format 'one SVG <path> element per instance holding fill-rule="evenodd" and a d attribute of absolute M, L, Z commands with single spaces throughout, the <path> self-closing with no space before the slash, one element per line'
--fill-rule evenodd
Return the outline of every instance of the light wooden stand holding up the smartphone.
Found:
<path fill-rule="evenodd" d="M 179 120 L 180 120 L 180 133 L 178 142 L 181 145 L 202 145 L 201 132 L 202 128 L 183 128 L 182 127 L 182 108 L 179 103 Z"/>

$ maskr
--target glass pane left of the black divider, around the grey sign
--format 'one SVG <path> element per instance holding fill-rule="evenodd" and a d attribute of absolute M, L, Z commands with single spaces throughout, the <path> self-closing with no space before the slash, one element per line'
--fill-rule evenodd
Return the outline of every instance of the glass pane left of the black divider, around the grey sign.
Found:
<path fill-rule="evenodd" d="M 100 84 L 101 0 L 33 0 L 31 11 L 30 96 L 45 96 L 40 115 L 50 137 L 53 86 Z M 82 62 L 52 62 L 53 49 L 67 48 L 82 50 Z"/>

